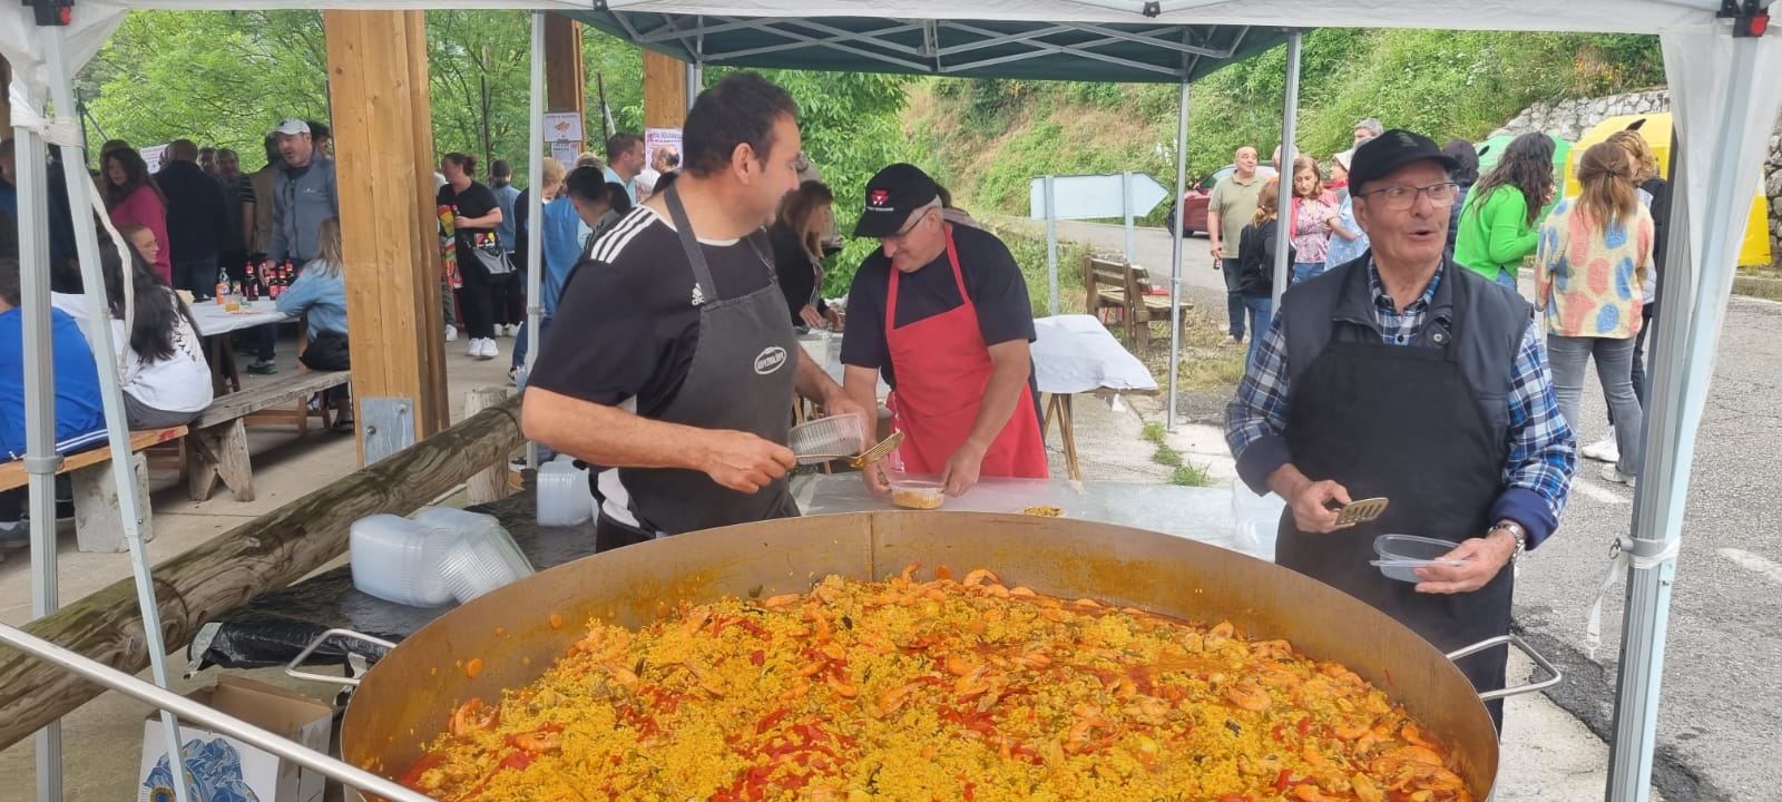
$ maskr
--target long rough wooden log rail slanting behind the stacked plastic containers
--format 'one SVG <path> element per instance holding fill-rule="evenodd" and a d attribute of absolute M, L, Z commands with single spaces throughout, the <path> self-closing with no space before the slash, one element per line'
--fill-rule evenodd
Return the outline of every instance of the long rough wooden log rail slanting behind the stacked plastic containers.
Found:
<path fill-rule="evenodd" d="M 520 438 L 520 399 L 508 399 L 378 463 L 230 529 L 155 567 L 155 599 L 169 649 L 212 617 L 283 588 L 346 552 L 365 515 L 406 515 L 486 465 L 506 465 Z M 134 579 L 112 583 L 27 633 L 135 674 L 148 668 Z M 103 688 L 0 647 L 0 749 L 68 715 Z"/>

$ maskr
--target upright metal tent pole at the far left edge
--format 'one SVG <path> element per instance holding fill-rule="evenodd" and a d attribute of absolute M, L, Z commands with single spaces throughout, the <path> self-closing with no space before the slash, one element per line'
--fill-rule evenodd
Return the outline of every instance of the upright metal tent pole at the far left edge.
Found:
<path fill-rule="evenodd" d="M 23 78 L 12 78 L 12 110 L 41 107 Z M 50 242 L 43 135 L 18 127 L 18 266 L 25 348 L 25 474 L 30 508 L 30 613 L 43 618 L 61 606 L 55 560 L 55 371 L 50 353 Z M 62 725 L 37 731 L 37 798 L 62 798 Z"/>

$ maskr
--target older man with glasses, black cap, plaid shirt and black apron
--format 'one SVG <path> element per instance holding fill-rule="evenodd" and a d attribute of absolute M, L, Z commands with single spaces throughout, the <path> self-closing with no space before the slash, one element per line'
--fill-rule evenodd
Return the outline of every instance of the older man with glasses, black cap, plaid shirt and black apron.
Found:
<path fill-rule="evenodd" d="M 1354 151 L 1372 248 L 1287 291 L 1226 408 L 1238 476 L 1287 499 L 1276 563 L 1443 651 L 1509 631 L 1509 567 L 1552 535 L 1577 465 L 1529 303 L 1443 255 L 1452 168 L 1406 130 Z M 1377 520 L 1340 522 L 1370 497 L 1388 503 Z M 1458 544 L 1454 563 L 1386 579 L 1369 565 L 1383 533 Z M 1481 692 L 1504 686 L 1504 649 L 1458 665 Z"/>

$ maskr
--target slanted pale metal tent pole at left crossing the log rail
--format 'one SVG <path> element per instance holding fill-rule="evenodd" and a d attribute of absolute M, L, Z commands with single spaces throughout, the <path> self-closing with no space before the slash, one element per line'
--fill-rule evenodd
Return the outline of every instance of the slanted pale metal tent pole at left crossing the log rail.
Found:
<path fill-rule="evenodd" d="M 59 112 L 73 110 L 75 96 L 68 71 L 68 29 L 59 25 L 45 27 L 43 41 L 45 68 L 48 71 L 50 93 L 55 98 L 55 109 Z M 73 217 L 75 223 L 75 250 L 80 255 L 80 282 L 86 287 L 87 308 L 91 310 L 89 314 L 98 319 L 107 314 L 110 305 L 105 303 L 105 274 L 100 269 L 98 230 L 93 225 L 93 216 L 86 214 L 93 205 L 93 182 L 82 175 L 84 171 L 71 169 L 73 164 L 80 164 L 80 157 L 82 153 L 73 143 L 62 144 L 62 180 L 68 185 L 68 205 L 69 212 L 73 212 L 69 217 Z M 48 260 L 45 260 L 45 264 L 48 264 Z M 123 269 L 130 269 L 128 260 Z M 125 273 L 125 276 L 128 276 L 128 273 Z M 130 282 L 127 278 L 127 294 L 128 287 Z M 48 296 L 45 296 L 43 301 L 43 308 L 48 310 Z M 96 364 L 100 374 L 100 397 L 105 408 L 105 430 L 110 440 L 112 476 L 118 481 L 118 508 L 125 511 L 125 515 L 121 515 L 123 535 L 130 547 L 130 569 L 135 576 L 135 602 L 143 608 L 143 638 L 148 642 L 150 670 L 155 677 L 155 684 L 160 688 L 171 688 L 173 677 L 168 672 L 168 643 L 162 638 L 160 602 L 155 601 L 155 579 L 150 576 L 148 569 L 148 545 L 143 542 L 143 506 L 148 499 L 143 499 L 137 494 L 134 454 L 130 453 L 130 424 L 125 421 L 123 387 L 119 383 L 114 333 L 110 326 L 103 324 L 89 328 L 89 337 L 93 340 L 93 362 Z M 55 520 L 53 511 L 46 520 Z M 185 759 L 180 752 L 180 745 L 184 741 L 180 741 L 178 718 L 175 718 L 169 711 L 162 711 L 160 724 L 166 729 L 168 763 L 176 779 L 173 784 L 175 798 L 178 802 L 187 802 L 191 795 L 185 782 L 178 782 L 178 779 L 185 777 Z"/>

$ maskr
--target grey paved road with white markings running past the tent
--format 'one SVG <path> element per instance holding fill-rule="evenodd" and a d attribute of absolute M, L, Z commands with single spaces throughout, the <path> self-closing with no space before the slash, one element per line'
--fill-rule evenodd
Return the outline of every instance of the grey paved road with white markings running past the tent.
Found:
<path fill-rule="evenodd" d="M 1124 248 L 1119 226 L 1064 223 L 1060 233 Z M 1164 230 L 1140 230 L 1137 260 L 1169 266 Z M 1219 308 L 1224 285 L 1205 239 L 1185 241 L 1185 289 Z M 1702 419 L 1684 545 L 1672 597 L 1655 786 L 1670 800 L 1773 802 L 1782 766 L 1782 303 L 1734 298 Z M 1586 378 L 1582 442 L 1606 431 Z M 1598 736 L 1613 729 L 1622 601 L 1604 606 L 1604 645 L 1584 651 L 1586 611 L 1607 545 L 1631 526 L 1632 492 L 1581 469 L 1561 529 L 1525 563 L 1516 626 L 1563 663 L 1554 702 Z"/>

